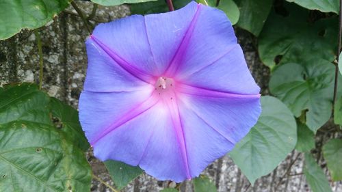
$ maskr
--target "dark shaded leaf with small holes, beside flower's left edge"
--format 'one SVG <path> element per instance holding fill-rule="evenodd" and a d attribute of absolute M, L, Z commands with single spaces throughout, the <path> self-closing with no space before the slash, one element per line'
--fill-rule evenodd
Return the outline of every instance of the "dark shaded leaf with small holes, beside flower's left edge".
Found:
<path fill-rule="evenodd" d="M 83 151 L 88 150 L 89 143 L 79 124 L 78 111 L 57 98 L 51 98 L 50 107 L 55 126 L 69 141 L 73 141 Z"/>

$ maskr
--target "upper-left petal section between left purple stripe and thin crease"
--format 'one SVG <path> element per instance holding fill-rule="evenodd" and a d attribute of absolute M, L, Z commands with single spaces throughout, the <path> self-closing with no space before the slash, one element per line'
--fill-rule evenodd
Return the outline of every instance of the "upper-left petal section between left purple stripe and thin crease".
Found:
<path fill-rule="evenodd" d="M 144 16 L 133 15 L 102 23 L 96 26 L 90 38 L 122 68 L 138 78 L 148 81 L 140 75 L 153 74 L 155 71 Z"/>

